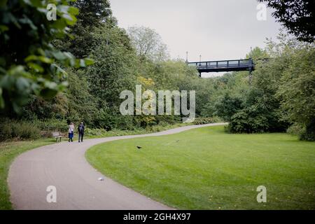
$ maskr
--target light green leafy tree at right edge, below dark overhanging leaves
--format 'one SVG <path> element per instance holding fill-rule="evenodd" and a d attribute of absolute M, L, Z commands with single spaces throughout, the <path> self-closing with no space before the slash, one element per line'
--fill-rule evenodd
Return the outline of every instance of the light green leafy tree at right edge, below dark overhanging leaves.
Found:
<path fill-rule="evenodd" d="M 305 127 L 301 139 L 315 140 L 315 48 L 290 50 L 290 64 L 283 71 L 277 96 L 281 110 L 291 123 Z"/>

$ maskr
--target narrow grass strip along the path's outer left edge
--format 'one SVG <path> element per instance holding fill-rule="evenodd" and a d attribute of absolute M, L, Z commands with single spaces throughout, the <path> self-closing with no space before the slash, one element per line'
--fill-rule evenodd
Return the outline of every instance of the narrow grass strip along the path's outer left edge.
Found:
<path fill-rule="evenodd" d="M 13 160 L 32 148 L 55 143 L 55 139 L 38 139 L 35 141 L 9 141 L 0 143 L 0 210 L 13 209 L 8 190 L 8 171 Z"/>

